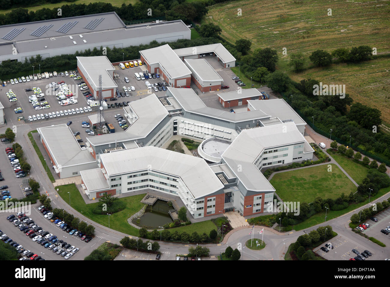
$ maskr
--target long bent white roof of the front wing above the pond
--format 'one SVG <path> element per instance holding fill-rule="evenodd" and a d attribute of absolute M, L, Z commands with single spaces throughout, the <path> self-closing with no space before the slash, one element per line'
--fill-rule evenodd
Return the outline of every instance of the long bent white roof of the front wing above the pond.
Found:
<path fill-rule="evenodd" d="M 100 155 L 108 175 L 154 170 L 179 176 L 194 198 L 223 188 L 223 184 L 204 159 L 154 146 Z"/>

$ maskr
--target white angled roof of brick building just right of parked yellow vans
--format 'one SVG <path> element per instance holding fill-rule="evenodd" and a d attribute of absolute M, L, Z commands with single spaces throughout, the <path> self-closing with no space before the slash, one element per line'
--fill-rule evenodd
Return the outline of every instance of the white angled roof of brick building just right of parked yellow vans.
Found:
<path fill-rule="evenodd" d="M 191 75 L 191 71 L 187 68 L 186 64 L 177 57 L 176 53 L 168 44 L 142 50 L 140 53 L 149 64 L 159 63 L 172 79 Z"/>

